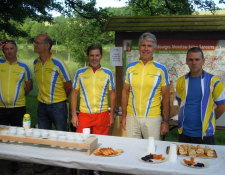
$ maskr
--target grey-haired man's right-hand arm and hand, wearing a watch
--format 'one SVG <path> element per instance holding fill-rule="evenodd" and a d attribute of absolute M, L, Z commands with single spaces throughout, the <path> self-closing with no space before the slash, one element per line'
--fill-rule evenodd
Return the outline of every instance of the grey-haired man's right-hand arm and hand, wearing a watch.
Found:
<path fill-rule="evenodd" d="M 164 118 L 168 119 L 170 114 L 170 85 L 162 87 L 162 101 Z M 165 135 L 169 132 L 169 124 L 165 121 L 161 124 L 160 134 Z"/>

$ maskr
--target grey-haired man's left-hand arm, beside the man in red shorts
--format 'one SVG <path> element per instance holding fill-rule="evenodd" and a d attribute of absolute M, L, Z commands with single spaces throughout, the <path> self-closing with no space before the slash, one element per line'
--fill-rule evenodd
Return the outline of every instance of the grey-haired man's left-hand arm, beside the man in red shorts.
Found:
<path fill-rule="evenodd" d="M 124 83 L 124 88 L 122 91 L 122 127 L 124 130 L 126 130 L 126 117 L 127 117 L 127 105 L 129 93 L 130 93 L 130 85 Z"/>

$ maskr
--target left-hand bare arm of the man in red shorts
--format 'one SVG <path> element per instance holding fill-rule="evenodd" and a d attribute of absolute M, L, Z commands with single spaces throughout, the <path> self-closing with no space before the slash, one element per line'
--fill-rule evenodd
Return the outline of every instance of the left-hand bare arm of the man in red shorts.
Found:
<path fill-rule="evenodd" d="M 71 123 L 73 124 L 74 127 L 78 127 L 79 125 L 79 120 L 77 117 L 77 95 L 78 95 L 78 90 L 74 89 L 72 90 L 71 93 L 71 98 L 70 98 L 70 105 L 71 105 L 71 110 L 72 110 L 72 119 Z"/>

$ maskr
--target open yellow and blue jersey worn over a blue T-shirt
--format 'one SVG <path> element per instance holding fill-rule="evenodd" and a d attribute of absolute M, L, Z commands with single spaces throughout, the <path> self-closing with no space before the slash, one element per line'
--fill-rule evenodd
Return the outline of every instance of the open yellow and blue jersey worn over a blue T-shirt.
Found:
<path fill-rule="evenodd" d="M 178 132 L 182 134 L 184 122 L 184 109 L 188 92 L 190 72 L 177 81 L 176 99 L 181 101 L 180 112 L 178 115 Z M 225 103 L 225 94 L 223 84 L 217 76 L 207 73 L 203 70 L 201 76 L 201 122 L 202 122 L 202 137 L 212 136 L 216 130 L 215 104 L 220 105 Z"/>

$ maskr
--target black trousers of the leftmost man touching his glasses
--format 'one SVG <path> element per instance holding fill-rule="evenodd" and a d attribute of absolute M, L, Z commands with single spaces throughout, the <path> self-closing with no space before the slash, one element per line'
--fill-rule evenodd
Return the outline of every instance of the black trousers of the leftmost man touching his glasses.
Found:
<path fill-rule="evenodd" d="M 23 126 L 26 107 L 0 108 L 0 125 Z"/>

